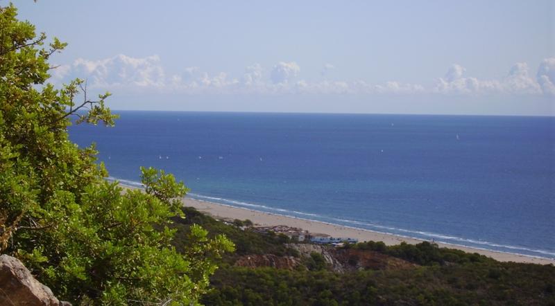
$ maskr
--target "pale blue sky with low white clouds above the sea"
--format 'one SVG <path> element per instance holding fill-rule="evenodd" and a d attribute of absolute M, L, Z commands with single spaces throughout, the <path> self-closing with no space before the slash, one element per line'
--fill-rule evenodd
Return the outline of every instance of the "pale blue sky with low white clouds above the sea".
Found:
<path fill-rule="evenodd" d="M 555 1 L 14 4 L 112 109 L 555 116 Z"/>

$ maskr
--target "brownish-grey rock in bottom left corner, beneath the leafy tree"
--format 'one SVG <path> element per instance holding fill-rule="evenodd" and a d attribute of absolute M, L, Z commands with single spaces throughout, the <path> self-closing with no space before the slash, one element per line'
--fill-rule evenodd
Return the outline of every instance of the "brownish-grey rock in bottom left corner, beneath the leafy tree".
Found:
<path fill-rule="evenodd" d="M 33 278 L 17 258 L 0 256 L 0 305 L 71 305 Z"/>

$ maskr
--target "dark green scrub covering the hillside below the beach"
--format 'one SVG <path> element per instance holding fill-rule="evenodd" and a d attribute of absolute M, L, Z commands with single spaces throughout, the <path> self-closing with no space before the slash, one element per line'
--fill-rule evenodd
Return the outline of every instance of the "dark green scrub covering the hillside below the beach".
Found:
<path fill-rule="evenodd" d="M 410 269 L 336 273 L 318 256 L 290 270 L 236 267 L 239 255 L 294 252 L 276 235 L 242 231 L 192 208 L 185 213 L 190 217 L 174 224 L 181 230 L 200 224 L 210 235 L 225 233 L 237 245 L 237 253 L 225 255 L 212 276 L 214 289 L 201 299 L 205 305 L 555 305 L 553 265 L 497 262 L 428 242 L 345 246 L 407 260 L 414 264 Z M 176 242 L 180 237 L 178 232 Z"/>

